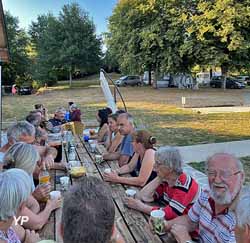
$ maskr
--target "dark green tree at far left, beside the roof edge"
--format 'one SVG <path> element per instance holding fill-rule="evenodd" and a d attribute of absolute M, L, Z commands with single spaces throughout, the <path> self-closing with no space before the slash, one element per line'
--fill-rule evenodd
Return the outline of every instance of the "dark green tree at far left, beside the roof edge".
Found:
<path fill-rule="evenodd" d="M 19 27 L 18 18 L 10 12 L 5 12 L 7 36 L 9 42 L 10 62 L 3 64 L 3 84 L 14 83 L 17 76 L 24 76 L 28 72 L 30 59 L 27 47 L 29 37 Z"/>

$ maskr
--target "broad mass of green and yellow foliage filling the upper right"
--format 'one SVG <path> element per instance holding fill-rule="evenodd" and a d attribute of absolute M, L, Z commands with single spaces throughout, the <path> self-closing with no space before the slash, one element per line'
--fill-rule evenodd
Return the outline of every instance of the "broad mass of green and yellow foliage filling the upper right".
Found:
<path fill-rule="evenodd" d="M 249 62 L 249 0 L 120 0 L 109 18 L 108 50 L 123 72 L 190 72 Z"/>

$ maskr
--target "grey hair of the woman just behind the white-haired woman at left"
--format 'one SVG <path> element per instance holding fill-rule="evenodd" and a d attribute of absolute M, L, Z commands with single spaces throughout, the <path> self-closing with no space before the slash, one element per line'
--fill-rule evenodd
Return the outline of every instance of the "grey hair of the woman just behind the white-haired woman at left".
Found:
<path fill-rule="evenodd" d="M 7 167 L 19 168 L 32 175 L 39 159 L 40 155 L 33 145 L 18 142 L 9 148 L 3 161 Z"/>

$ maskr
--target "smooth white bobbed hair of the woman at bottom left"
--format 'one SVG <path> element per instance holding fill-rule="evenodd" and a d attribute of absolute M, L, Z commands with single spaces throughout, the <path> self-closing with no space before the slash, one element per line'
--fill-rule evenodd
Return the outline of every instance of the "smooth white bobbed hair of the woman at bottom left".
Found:
<path fill-rule="evenodd" d="M 0 173 L 0 221 L 17 214 L 21 203 L 31 194 L 29 175 L 20 169 Z"/>

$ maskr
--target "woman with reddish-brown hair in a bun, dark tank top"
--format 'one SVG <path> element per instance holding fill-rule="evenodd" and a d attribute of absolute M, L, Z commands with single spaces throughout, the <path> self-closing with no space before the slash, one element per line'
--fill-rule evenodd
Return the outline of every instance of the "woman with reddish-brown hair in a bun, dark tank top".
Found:
<path fill-rule="evenodd" d="M 104 180 L 133 186 L 143 187 L 157 175 L 154 167 L 154 144 L 156 139 L 145 130 L 132 133 L 134 155 L 130 162 L 111 173 L 104 173 Z M 132 177 L 119 175 L 130 173 Z"/>

